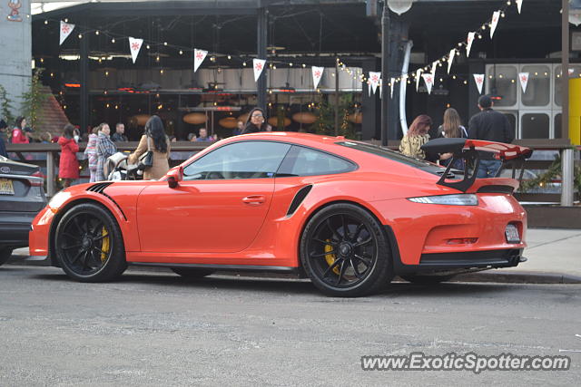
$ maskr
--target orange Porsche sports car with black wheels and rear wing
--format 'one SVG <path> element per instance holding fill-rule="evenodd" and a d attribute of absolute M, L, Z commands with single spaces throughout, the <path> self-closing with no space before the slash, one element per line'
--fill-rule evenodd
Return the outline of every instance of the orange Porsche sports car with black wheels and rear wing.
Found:
<path fill-rule="evenodd" d="M 455 157 L 527 153 L 438 140 Z M 131 264 L 191 279 L 298 272 L 326 295 L 369 295 L 394 276 L 434 283 L 517 266 L 527 229 L 517 186 L 342 137 L 252 133 L 216 142 L 160 180 L 64 189 L 34 219 L 30 250 L 82 282 L 113 280 Z"/>

